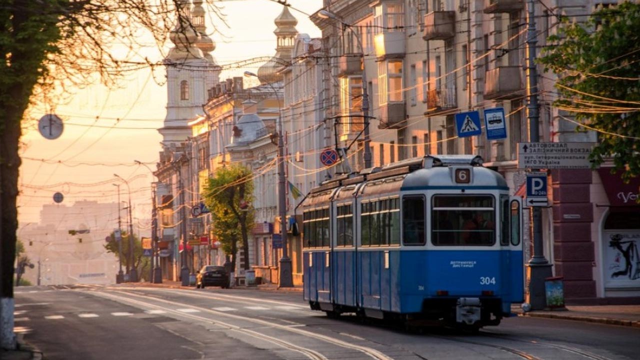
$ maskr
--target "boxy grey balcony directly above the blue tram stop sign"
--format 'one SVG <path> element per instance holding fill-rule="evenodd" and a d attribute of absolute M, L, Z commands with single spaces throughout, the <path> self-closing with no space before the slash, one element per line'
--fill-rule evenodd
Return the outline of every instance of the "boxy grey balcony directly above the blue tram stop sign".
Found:
<path fill-rule="evenodd" d="M 509 100 L 524 95 L 522 67 L 501 66 L 486 72 L 484 99 Z"/>

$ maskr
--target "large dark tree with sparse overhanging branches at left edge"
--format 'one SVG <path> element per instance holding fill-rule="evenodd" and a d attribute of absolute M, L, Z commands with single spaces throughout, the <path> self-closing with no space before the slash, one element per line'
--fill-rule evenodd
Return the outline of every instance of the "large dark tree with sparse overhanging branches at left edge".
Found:
<path fill-rule="evenodd" d="M 0 6 L 0 347 L 15 348 L 15 261 L 22 123 L 29 104 L 55 108 L 74 88 L 113 88 L 125 74 L 159 65 L 138 50 L 159 51 L 175 29 L 186 44 L 195 28 L 187 0 L 7 0 Z M 209 13 L 223 20 L 209 2 Z M 175 25 L 177 24 L 177 25 Z M 180 66 L 167 63 L 161 66 Z M 30 124 L 26 124 L 30 125 Z"/>

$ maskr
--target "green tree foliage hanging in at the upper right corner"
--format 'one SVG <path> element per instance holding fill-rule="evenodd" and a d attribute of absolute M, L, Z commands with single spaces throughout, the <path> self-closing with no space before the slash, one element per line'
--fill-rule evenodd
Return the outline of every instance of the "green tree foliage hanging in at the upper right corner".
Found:
<path fill-rule="evenodd" d="M 591 160 L 640 175 L 640 4 L 620 3 L 584 24 L 564 20 L 538 60 L 559 76 L 559 110 L 598 131 Z M 584 130 L 580 129 L 579 130 Z"/>

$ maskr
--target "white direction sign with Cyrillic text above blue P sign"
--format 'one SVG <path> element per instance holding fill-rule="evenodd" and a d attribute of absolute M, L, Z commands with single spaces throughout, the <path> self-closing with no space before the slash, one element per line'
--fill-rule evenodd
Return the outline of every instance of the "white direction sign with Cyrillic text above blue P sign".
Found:
<path fill-rule="evenodd" d="M 592 142 L 519 142 L 518 168 L 591 168 Z"/>

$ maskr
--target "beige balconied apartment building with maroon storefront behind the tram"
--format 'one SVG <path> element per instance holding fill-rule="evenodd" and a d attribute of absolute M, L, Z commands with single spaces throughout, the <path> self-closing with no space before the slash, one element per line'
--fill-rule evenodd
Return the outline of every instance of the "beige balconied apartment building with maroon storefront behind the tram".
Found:
<path fill-rule="evenodd" d="M 534 8 L 532 19 L 527 3 Z M 322 90 L 326 117 L 340 118 L 339 147 L 357 139 L 349 160 L 362 169 L 362 126 L 369 122 L 372 166 L 424 154 L 479 154 L 508 179 L 514 193 L 524 195 L 527 169 L 518 168 L 517 154 L 518 142 L 529 140 L 527 25 L 535 21 L 540 47 L 556 31 L 558 15 L 584 21 L 597 6 L 612 3 L 324 1 L 311 18 L 323 32 L 329 58 Z M 540 142 L 596 142 L 595 133 L 576 132 L 570 115 L 552 107 L 555 78 L 542 70 L 538 66 L 535 94 Z M 371 118 L 363 120 L 365 93 Z M 456 113 L 496 107 L 504 108 L 508 138 L 489 141 L 484 131 L 458 138 Z M 630 274 L 634 265 L 625 256 L 637 249 L 638 215 L 630 214 L 639 211 L 628 200 L 621 204 L 637 197 L 638 184 L 623 187 L 609 170 L 548 170 L 552 206 L 542 211 L 543 249 L 554 274 L 564 277 L 568 299 L 624 302 L 640 295 L 640 275 Z"/>

